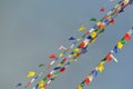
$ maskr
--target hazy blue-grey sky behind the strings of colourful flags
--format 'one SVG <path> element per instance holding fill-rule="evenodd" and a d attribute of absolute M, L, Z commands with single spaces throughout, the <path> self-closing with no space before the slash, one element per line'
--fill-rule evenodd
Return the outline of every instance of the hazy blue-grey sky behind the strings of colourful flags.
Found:
<path fill-rule="evenodd" d="M 48 63 L 49 55 L 58 55 L 58 47 L 70 46 L 71 36 L 80 37 L 78 28 L 93 27 L 90 18 L 100 20 L 119 0 L 0 0 L 0 89 L 18 89 L 25 83 L 29 70 L 37 73 Z M 105 12 L 100 12 L 104 7 Z M 83 78 L 133 27 L 133 6 L 115 18 L 89 51 L 73 62 L 48 89 L 75 89 Z M 84 89 L 132 89 L 133 40 L 115 55 L 119 62 L 105 65 L 105 70 Z M 37 82 L 35 82 L 37 83 Z M 21 87 L 19 89 L 22 89 Z"/>

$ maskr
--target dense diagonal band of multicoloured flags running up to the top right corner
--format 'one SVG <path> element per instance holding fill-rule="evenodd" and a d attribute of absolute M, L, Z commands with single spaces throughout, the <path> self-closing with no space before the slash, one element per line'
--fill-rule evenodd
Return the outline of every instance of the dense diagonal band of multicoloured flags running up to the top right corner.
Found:
<path fill-rule="evenodd" d="M 108 12 L 108 14 L 105 14 L 101 20 L 99 20 L 96 24 L 85 33 L 86 38 L 84 38 L 84 40 L 81 41 L 80 44 L 75 47 L 70 55 L 64 57 L 62 61 L 58 63 L 53 70 L 51 70 L 45 77 L 43 77 L 43 79 L 41 79 L 40 82 L 33 87 L 33 89 L 45 88 L 48 85 L 51 83 L 51 81 L 58 78 L 59 73 L 63 72 L 70 66 L 71 62 L 76 61 L 82 53 L 85 53 L 88 51 L 86 50 L 88 46 L 98 38 L 98 34 L 104 31 L 104 28 L 106 26 L 113 24 L 114 17 L 117 16 L 117 13 L 121 13 L 122 10 L 124 10 L 124 8 L 129 4 L 130 4 L 129 0 L 122 0 L 117 4 L 115 4 L 115 7 L 112 8 L 110 12 Z M 102 65 L 100 65 L 100 67 L 104 68 Z"/>

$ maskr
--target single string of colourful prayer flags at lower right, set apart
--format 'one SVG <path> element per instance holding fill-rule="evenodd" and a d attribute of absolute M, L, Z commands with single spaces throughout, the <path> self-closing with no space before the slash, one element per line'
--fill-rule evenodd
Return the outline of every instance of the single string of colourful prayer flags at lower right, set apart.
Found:
<path fill-rule="evenodd" d="M 92 82 L 93 78 L 95 78 L 99 72 L 103 72 L 105 69 L 105 62 L 110 62 L 112 59 L 117 62 L 117 59 L 113 56 L 113 53 L 117 53 L 116 50 L 121 50 L 123 46 L 131 40 L 132 33 L 133 28 L 130 29 L 120 41 L 117 41 L 116 46 L 114 46 L 114 48 L 100 61 L 100 63 L 83 79 L 83 81 L 76 87 L 76 89 L 83 89 L 84 86 L 89 86 L 89 83 Z M 120 42 L 121 44 L 119 44 Z"/>

